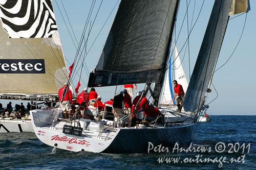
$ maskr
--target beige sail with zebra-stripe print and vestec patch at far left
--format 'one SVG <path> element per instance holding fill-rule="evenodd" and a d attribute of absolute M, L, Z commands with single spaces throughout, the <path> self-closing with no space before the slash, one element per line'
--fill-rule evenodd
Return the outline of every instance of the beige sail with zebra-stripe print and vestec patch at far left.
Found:
<path fill-rule="evenodd" d="M 1 1 L 0 93 L 57 93 L 67 68 L 50 0 Z"/>

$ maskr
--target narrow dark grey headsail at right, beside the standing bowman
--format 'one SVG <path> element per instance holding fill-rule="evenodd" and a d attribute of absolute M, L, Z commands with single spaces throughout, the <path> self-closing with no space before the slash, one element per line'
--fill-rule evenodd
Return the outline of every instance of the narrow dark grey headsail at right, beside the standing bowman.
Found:
<path fill-rule="evenodd" d="M 225 35 L 232 0 L 215 1 L 184 99 L 185 111 L 200 109 Z"/>

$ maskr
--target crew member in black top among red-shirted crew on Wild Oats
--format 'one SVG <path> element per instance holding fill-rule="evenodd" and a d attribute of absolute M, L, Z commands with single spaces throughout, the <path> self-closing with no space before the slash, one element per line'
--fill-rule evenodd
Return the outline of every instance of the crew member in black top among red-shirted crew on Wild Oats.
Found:
<path fill-rule="evenodd" d="M 122 101 L 123 101 L 123 91 L 120 91 L 120 93 L 114 97 L 114 102 L 113 102 L 115 121 L 118 118 L 123 117 L 124 103 Z"/>

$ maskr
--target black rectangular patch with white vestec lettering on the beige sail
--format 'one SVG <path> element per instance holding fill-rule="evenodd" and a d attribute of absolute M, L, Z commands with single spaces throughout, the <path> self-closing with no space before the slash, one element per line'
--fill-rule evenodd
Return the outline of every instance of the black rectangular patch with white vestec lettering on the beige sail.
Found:
<path fill-rule="evenodd" d="M 0 59 L 3 74 L 45 74 L 44 59 Z"/>

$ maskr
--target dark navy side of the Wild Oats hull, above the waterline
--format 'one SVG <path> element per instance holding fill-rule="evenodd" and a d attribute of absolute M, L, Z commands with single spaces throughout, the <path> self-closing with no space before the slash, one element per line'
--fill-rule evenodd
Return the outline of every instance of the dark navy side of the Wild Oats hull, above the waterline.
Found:
<path fill-rule="evenodd" d="M 172 150 L 176 142 L 181 146 L 190 144 L 194 127 L 195 124 L 176 128 L 121 128 L 103 153 L 147 153 L 148 142 L 153 143 L 154 147 L 162 144 Z M 151 150 L 151 152 L 154 151 Z"/>

